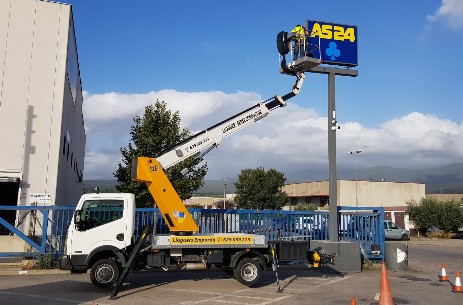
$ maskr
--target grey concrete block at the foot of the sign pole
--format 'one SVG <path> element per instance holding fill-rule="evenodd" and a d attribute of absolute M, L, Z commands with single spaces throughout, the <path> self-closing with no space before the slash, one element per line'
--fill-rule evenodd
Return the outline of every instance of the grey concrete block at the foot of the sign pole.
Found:
<path fill-rule="evenodd" d="M 362 258 L 360 245 L 356 242 L 329 240 L 311 240 L 311 249 L 321 248 L 321 254 L 334 254 L 334 265 L 328 265 L 337 272 L 361 272 Z"/>

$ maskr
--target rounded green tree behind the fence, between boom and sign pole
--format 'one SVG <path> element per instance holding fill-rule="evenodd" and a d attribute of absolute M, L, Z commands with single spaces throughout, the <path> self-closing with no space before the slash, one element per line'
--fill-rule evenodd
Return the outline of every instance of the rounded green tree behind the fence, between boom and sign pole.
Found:
<path fill-rule="evenodd" d="M 235 204 L 240 209 L 279 210 L 288 202 L 281 191 L 285 181 L 284 174 L 273 168 L 244 169 L 235 182 Z"/>

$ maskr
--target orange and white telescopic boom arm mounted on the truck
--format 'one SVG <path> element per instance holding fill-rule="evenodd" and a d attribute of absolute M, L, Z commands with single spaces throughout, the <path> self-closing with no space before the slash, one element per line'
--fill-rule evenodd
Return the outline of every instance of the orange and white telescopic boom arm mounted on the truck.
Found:
<path fill-rule="evenodd" d="M 288 94 L 276 95 L 205 129 L 158 158 L 139 157 L 133 160 L 132 179 L 147 184 L 172 233 L 191 235 L 198 232 L 198 226 L 173 188 L 163 168 L 167 169 L 200 151 L 209 152 L 212 148 L 217 147 L 224 138 L 266 117 L 270 111 L 285 106 L 286 101 L 296 96 L 301 90 L 305 74 L 299 72 L 296 74 L 296 78 L 293 88 Z"/>

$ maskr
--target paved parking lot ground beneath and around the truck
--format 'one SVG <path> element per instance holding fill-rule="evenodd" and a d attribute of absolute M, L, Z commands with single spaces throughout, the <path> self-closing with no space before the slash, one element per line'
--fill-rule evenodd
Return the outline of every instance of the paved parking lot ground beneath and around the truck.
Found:
<path fill-rule="evenodd" d="M 439 282 L 441 264 L 455 281 L 463 272 L 463 240 L 412 240 L 409 270 L 388 271 L 395 304 L 462 304 L 463 294 Z M 222 271 L 148 271 L 129 275 L 119 299 L 95 288 L 88 274 L 0 275 L 0 304 L 378 304 L 380 270 L 335 274 L 282 266 L 277 292 L 275 274 L 247 288 Z M 329 270 L 324 270 L 329 271 Z M 1 271 L 0 271 L 0 274 Z"/>

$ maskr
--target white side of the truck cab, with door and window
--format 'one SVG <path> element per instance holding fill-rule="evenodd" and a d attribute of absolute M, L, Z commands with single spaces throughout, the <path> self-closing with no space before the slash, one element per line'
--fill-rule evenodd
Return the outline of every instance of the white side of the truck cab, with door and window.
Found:
<path fill-rule="evenodd" d="M 76 211 L 80 216 L 76 221 L 71 238 L 72 254 L 89 254 L 99 246 L 115 246 L 122 249 L 131 242 L 133 225 L 129 209 L 124 209 L 127 200 L 115 198 L 88 199 Z"/>

